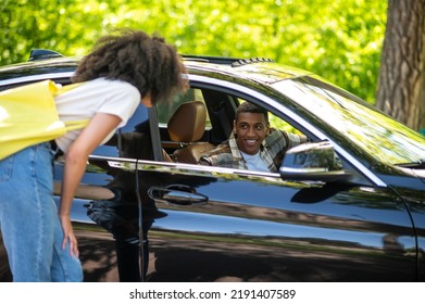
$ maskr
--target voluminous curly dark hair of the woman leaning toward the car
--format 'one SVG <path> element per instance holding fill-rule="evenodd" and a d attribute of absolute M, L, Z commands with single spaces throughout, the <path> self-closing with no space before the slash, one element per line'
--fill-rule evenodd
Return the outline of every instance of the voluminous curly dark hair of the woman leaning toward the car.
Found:
<path fill-rule="evenodd" d="M 79 63 L 73 83 L 120 79 L 135 86 L 141 98 L 150 94 L 153 104 L 171 101 L 174 93 L 188 87 L 182 58 L 164 38 L 133 29 L 117 33 L 98 40 Z"/>

